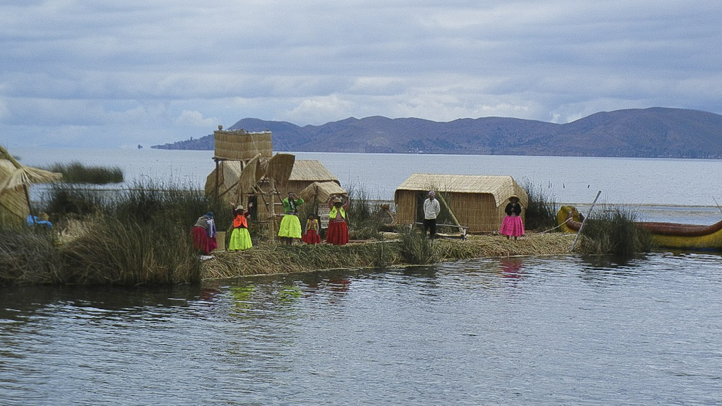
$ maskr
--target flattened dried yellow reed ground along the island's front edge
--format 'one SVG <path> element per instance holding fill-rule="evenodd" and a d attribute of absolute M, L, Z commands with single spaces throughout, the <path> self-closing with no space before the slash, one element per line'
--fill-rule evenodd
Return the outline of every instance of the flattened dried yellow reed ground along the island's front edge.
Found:
<path fill-rule="evenodd" d="M 238 252 L 217 251 L 201 265 L 202 279 L 235 278 L 246 275 L 295 273 L 339 268 L 375 268 L 404 264 L 401 244 L 387 233 L 381 242 L 261 245 Z M 433 250 L 439 261 L 516 255 L 568 254 L 575 234 L 526 234 L 518 241 L 499 235 L 472 235 L 466 241 L 436 239 Z"/>

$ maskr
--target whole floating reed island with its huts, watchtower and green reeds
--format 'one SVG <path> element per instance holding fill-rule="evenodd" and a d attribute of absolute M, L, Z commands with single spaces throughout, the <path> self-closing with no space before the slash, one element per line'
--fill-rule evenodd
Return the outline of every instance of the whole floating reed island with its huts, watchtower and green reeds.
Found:
<path fill-rule="evenodd" d="M 362 185 L 342 187 L 321 162 L 273 155 L 270 133 L 219 127 L 215 134 L 216 167 L 204 190 L 152 180 L 116 190 L 61 181 L 48 187 L 40 202 L 30 201 L 30 184 L 67 175 L 25 167 L 0 149 L 4 155 L 0 180 L 6 185 L 0 191 L 0 285 L 199 283 L 241 275 L 565 255 L 572 246 L 570 234 L 547 232 L 559 231 L 552 199 L 541 193 L 541 187 L 522 187 L 510 176 L 414 174 L 397 189 L 393 202 L 380 202 L 370 200 Z M 5 182 L 16 179 L 24 181 Z M 422 202 L 430 189 L 436 190 L 442 205 L 440 231 L 453 233 L 440 239 L 429 239 L 419 231 Z M 349 199 L 352 242 L 278 244 L 281 199 L 291 191 L 305 200 L 300 218 L 315 214 L 321 229 L 329 221 L 329 198 Z M 527 233 L 518 241 L 496 233 L 511 197 L 524 206 L 521 216 Z M 232 208 L 237 205 L 252 208 L 248 231 L 253 247 L 240 252 L 217 250 L 210 258 L 199 255 L 190 232 L 196 219 L 212 211 L 221 231 L 219 245 L 225 247 L 230 233 L 222 230 L 230 229 Z M 39 218 L 40 212 L 47 213 L 52 228 L 26 222 Z M 599 251 L 599 244 L 586 240 L 581 238 L 577 252 L 586 247 Z"/>

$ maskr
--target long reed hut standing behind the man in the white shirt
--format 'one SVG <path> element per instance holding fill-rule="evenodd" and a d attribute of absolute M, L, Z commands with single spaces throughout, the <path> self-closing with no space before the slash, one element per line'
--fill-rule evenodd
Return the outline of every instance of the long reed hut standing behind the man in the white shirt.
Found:
<path fill-rule="evenodd" d="M 424 220 L 422 205 L 429 190 L 436 191 L 441 203 L 440 224 L 456 223 L 470 233 L 498 230 L 510 197 L 518 197 L 523 207 L 529 202 L 526 191 L 510 176 L 414 173 L 396 187 L 396 224 Z"/>

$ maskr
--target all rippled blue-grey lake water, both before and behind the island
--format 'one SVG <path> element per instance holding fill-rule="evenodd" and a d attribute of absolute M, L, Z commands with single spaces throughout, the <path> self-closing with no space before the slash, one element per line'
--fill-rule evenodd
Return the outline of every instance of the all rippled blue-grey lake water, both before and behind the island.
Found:
<path fill-rule="evenodd" d="M 12 151 L 202 185 L 212 151 Z M 718 161 L 297 154 L 390 199 L 413 172 L 707 223 Z M 722 202 L 721 202 L 722 203 Z M 650 214 L 652 213 L 652 214 Z M 0 405 L 722 405 L 722 258 L 480 259 L 165 288 L 0 288 Z"/>

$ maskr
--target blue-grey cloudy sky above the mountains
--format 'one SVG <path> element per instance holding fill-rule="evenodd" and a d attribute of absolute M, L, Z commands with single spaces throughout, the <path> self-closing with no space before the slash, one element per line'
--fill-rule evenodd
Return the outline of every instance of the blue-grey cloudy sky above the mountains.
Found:
<path fill-rule="evenodd" d="M 0 144 L 150 146 L 241 118 L 722 113 L 719 0 L 0 0 Z"/>

